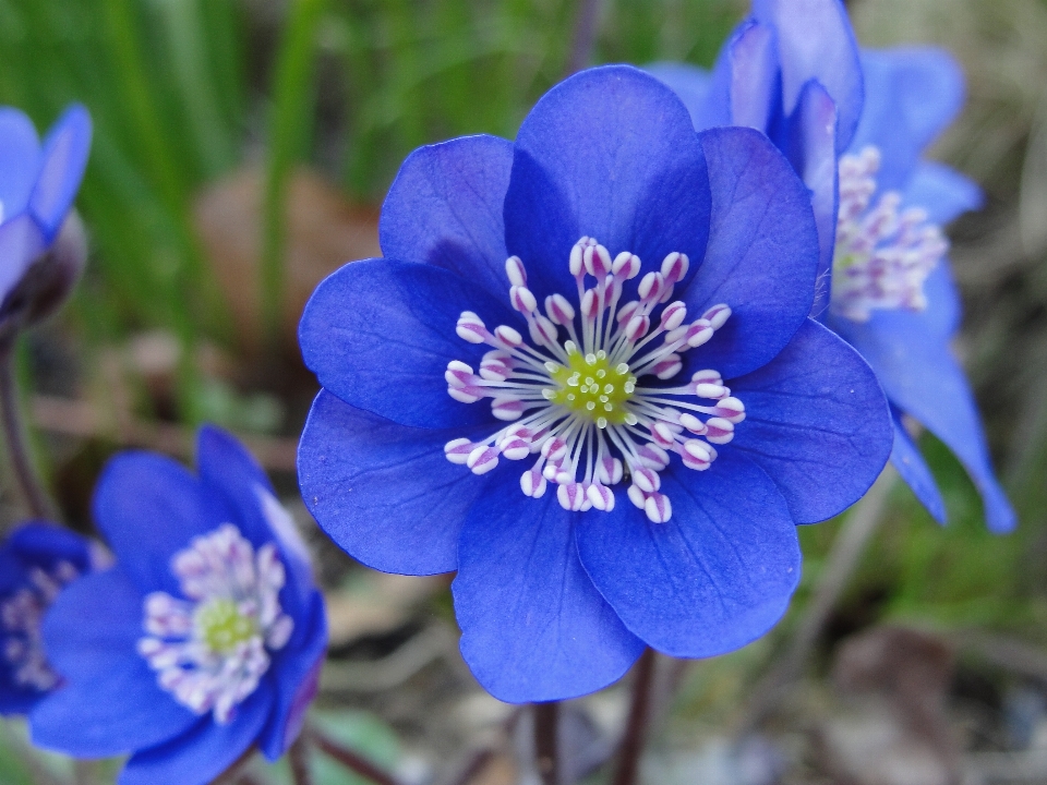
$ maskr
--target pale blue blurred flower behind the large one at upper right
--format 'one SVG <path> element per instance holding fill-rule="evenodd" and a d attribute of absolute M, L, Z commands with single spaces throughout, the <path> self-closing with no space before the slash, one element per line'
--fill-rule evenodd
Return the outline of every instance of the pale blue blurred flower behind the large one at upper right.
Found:
<path fill-rule="evenodd" d="M 956 63 L 930 48 L 859 52 L 839 0 L 757 0 L 712 74 L 664 63 L 651 71 L 687 101 L 697 130 L 766 130 L 807 183 L 821 242 L 813 315 L 876 371 L 894 418 L 891 460 L 916 496 L 944 522 L 903 414 L 960 459 L 988 528 L 1013 529 L 949 347 L 960 305 L 940 227 L 980 206 L 982 195 L 962 174 L 922 158 L 963 104 Z"/>

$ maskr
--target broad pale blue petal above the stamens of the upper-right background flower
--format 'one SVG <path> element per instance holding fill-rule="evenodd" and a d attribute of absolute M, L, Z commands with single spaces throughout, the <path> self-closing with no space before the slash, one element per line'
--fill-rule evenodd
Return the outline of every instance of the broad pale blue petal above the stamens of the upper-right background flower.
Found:
<path fill-rule="evenodd" d="M 942 49 L 899 48 L 862 52 L 865 108 L 851 149 L 880 149 L 877 184 L 900 191 L 919 156 L 963 106 L 963 73 Z"/>

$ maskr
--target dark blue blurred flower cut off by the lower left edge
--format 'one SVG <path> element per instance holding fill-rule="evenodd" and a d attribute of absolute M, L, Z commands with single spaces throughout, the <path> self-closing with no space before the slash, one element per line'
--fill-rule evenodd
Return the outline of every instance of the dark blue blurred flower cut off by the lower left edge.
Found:
<path fill-rule="evenodd" d="M 50 523 L 25 523 L 0 545 L 0 714 L 25 714 L 59 684 L 40 621 L 62 588 L 96 566 L 87 540 Z"/>

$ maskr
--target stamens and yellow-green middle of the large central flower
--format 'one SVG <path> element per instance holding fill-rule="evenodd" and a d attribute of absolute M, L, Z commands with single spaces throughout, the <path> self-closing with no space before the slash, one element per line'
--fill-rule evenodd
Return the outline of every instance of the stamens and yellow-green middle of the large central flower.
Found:
<path fill-rule="evenodd" d="M 669 466 L 670 454 L 689 469 L 708 469 L 717 457 L 712 445 L 733 438 L 745 407 L 712 370 L 678 386 L 640 381 L 676 376 L 682 354 L 708 342 L 731 309 L 714 305 L 684 323 L 685 304 L 669 301 L 687 274 L 685 254 L 669 254 L 660 271 L 640 279 L 637 299 L 625 303 L 625 282 L 640 270 L 636 255 L 624 251 L 612 259 L 595 240 L 582 238 L 568 264 L 577 282 L 577 310 L 557 293 L 545 299 L 542 313 L 527 287 L 524 263 L 516 256 L 505 263 L 509 301 L 527 319 L 533 346 L 513 327 L 489 330 L 477 314 L 461 314 L 459 337 L 492 351 L 481 360 L 479 373 L 450 362 L 447 392 L 464 403 L 490 398 L 494 416 L 513 424 L 483 442 L 448 442 L 445 455 L 476 474 L 494 469 L 500 456 L 522 460 L 537 455 L 520 478 L 521 490 L 539 498 L 547 483 L 556 484 L 561 506 L 573 511 L 612 510 L 611 487 L 628 480 L 629 500 L 652 521 L 667 521 L 672 505 L 660 492 L 659 472 Z M 587 278 L 595 283 L 587 288 Z"/>

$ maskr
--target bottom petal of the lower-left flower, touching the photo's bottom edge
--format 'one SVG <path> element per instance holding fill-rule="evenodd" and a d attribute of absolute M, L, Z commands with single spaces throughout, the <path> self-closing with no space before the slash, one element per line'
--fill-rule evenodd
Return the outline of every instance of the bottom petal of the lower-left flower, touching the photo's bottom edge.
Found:
<path fill-rule="evenodd" d="M 207 785 L 246 752 L 273 705 L 263 680 L 228 725 L 205 720 L 167 744 L 136 752 L 117 785 Z"/>

